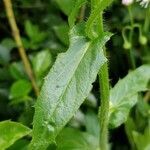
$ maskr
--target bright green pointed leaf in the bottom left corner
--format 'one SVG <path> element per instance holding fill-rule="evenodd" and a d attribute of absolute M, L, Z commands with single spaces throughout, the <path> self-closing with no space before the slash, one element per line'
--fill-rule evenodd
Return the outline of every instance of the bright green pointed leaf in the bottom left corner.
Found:
<path fill-rule="evenodd" d="M 0 149 L 5 150 L 15 141 L 31 133 L 26 126 L 12 121 L 0 122 Z"/>

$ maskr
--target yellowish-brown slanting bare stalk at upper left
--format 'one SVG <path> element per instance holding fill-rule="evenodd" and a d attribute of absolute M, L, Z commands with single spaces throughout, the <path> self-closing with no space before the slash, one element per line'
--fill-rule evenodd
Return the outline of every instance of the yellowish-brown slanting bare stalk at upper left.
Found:
<path fill-rule="evenodd" d="M 19 29 L 17 27 L 17 23 L 16 23 L 16 20 L 15 20 L 11 0 L 3 0 L 3 1 L 4 1 L 6 13 L 7 13 L 7 18 L 8 18 L 11 30 L 12 30 L 12 34 L 13 34 L 14 40 L 17 44 L 20 57 L 23 61 L 25 71 L 26 71 L 29 79 L 31 80 L 31 83 L 32 83 L 32 86 L 33 86 L 33 89 L 35 91 L 36 96 L 38 96 L 39 89 L 38 89 L 38 86 L 35 82 L 34 74 L 33 74 L 28 56 L 25 52 L 25 49 L 23 47 L 23 43 L 21 41 L 21 36 L 20 36 Z"/>

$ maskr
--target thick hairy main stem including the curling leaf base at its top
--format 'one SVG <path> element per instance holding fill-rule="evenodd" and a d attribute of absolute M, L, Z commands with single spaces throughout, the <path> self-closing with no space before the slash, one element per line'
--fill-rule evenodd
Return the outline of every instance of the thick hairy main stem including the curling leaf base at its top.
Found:
<path fill-rule="evenodd" d="M 111 4 L 113 0 L 91 0 L 91 15 L 86 24 L 86 33 L 89 38 L 93 38 L 93 25 L 97 27 L 97 35 L 101 36 L 103 30 L 103 10 Z M 104 48 L 104 54 L 106 51 Z M 109 122 L 109 74 L 107 62 L 101 67 L 99 71 L 100 83 L 100 99 L 101 106 L 99 108 L 99 148 L 100 150 L 108 150 L 108 122 Z"/>

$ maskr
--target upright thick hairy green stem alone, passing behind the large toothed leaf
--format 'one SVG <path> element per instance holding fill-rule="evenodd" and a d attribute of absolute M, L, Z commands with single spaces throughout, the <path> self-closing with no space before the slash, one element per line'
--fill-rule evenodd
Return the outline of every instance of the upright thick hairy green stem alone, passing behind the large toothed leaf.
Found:
<path fill-rule="evenodd" d="M 99 18 L 99 32 L 103 33 L 103 17 L 102 13 Z M 104 53 L 106 51 L 104 48 Z M 100 99 L 101 107 L 99 113 L 99 123 L 100 123 L 100 137 L 99 144 L 100 150 L 108 150 L 108 121 L 109 121 L 109 75 L 108 75 L 108 65 L 107 62 L 101 67 L 99 71 L 99 83 L 100 83 Z"/>

